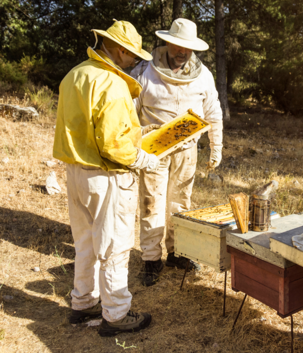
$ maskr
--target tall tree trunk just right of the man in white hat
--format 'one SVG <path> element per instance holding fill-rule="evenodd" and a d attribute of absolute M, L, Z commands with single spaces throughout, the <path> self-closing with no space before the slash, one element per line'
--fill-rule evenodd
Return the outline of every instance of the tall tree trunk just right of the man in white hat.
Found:
<path fill-rule="evenodd" d="M 217 91 L 223 112 L 223 120 L 230 120 L 227 101 L 226 66 L 224 47 L 224 6 L 223 0 L 215 0 L 215 31 L 216 31 L 216 72 Z"/>

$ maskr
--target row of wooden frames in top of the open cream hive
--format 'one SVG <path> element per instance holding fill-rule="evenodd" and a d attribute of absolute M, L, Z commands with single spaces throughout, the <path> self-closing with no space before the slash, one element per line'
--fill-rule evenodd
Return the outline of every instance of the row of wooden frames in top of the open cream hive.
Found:
<path fill-rule="evenodd" d="M 179 215 L 214 224 L 228 224 L 235 221 L 230 203 L 180 212 Z"/>

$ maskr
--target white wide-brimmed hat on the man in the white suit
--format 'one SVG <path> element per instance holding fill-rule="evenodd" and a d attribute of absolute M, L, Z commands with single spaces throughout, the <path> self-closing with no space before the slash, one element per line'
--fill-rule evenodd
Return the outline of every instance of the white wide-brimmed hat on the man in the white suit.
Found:
<path fill-rule="evenodd" d="M 197 38 L 196 24 L 185 18 L 178 18 L 172 23 L 169 31 L 156 31 L 156 35 L 169 43 L 187 49 L 203 51 L 209 48 L 204 40 Z"/>

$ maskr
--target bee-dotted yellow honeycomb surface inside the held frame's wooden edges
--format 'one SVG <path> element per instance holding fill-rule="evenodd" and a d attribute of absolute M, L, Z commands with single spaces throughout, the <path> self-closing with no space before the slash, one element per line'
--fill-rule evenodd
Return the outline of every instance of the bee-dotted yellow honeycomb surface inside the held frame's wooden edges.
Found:
<path fill-rule="evenodd" d="M 204 127 L 205 124 L 187 113 L 143 137 L 142 149 L 158 156 Z"/>

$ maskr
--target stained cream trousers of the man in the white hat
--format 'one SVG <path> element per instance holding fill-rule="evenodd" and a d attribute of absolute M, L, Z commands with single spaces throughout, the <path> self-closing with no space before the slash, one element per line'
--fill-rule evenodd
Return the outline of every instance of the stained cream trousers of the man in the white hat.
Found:
<path fill-rule="evenodd" d="M 174 252 L 171 215 L 190 208 L 190 196 L 197 162 L 197 146 L 164 157 L 150 174 L 140 170 L 140 247 L 142 260 L 157 261 L 162 256 L 164 236 L 168 253 Z M 167 200 L 167 217 L 166 214 Z"/>

